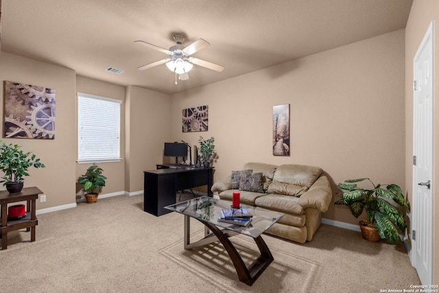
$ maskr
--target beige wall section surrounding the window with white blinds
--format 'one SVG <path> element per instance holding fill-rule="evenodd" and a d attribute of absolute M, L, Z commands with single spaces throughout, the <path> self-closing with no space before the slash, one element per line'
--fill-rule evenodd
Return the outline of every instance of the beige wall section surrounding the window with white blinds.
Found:
<path fill-rule="evenodd" d="M 125 154 L 125 86 L 117 86 L 115 84 L 109 84 L 107 82 L 101 82 L 99 80 L 93 80 L 91 78 L 84 78 L 82 76 L 76 77 L 76 91 L 78 93 L 87 93 L 89 95 L 99 95 L 101 97 L 110 97 L 112 99 L 119 99 L 122 101 L 121 104 L 121 158 L 120 162 L 112 163 L 99 163 L 99 167 L 104 169 L 104 175 L 107 177 L 106 186 L 102 188 L 102 194 L 112 194 L 121 193 L 124 191 L 124 178 L 125 178 L 125 168 L 124 168 L 124 154 Z M 75 97 L 75 109 L 78 109 L 77 99 Z M 78 120 L 76 119 L 77 110 L 75 111 L 75 158 L 77 159 L 78 153 L 78 129 L 76 125 Z M 99 143 L 99 141 L 96 141 Z M 76 179 L 80 175 L 86 173 L 86 169 L 90 167 L 91 164 L 76 164 Z M 83 191 L 82 185 L 76 185 L 76 192 L 78 193 L 78 198 L 81 198 Z"/>

